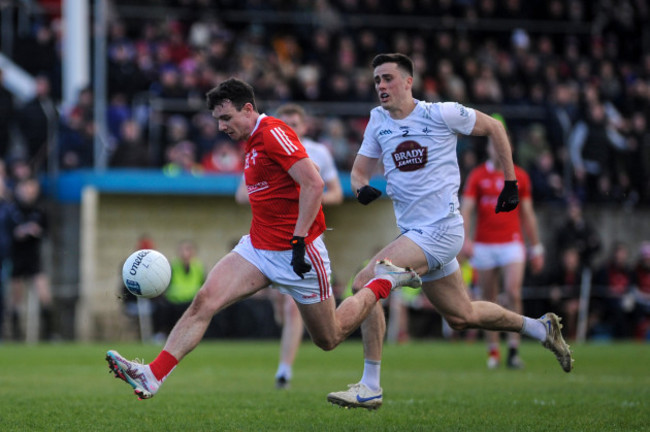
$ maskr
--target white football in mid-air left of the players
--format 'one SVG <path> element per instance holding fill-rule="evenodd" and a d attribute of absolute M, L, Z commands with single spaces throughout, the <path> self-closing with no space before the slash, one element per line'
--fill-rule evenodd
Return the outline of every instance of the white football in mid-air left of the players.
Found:
<path fill-rule="evenodd" d="M 138 297 L 153 298 L 164 293 L 171 277 L 172 268 L 165 255 L 152 249 L 133 252 L 122 267 L 124 285 Z"/>

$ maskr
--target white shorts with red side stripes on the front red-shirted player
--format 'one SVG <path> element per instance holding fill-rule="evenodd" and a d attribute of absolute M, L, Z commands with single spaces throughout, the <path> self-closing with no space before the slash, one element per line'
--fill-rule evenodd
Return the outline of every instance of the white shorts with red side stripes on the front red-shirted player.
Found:
<path fill-rule="evenodd" d="M 246 261 L 253 264 L 269 278 L 273 288 L 289 294 L 298 303 L 320 303 L 332 295 L 330 284 L 330 259 L 323 238 L 318 237 L 306 245 L 305 261 L 311 264 L 311 270 L 301 279 L 291 267 L 291 249 L 272 251 L 256 249 L 249 235 L 245 235 L 233 249 Z"/>

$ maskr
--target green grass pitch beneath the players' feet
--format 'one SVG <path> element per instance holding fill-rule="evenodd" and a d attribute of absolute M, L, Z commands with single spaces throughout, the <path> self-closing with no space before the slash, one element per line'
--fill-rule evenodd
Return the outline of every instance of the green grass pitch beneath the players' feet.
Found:
<path fill-rule="evenodd" d="M 329 405 L 359 380 L 361 344 L 322 352 L 305 342 L 292 388 L 275 390 L 278 343 L 205 341 L 151 400 L 108 372 L 107 349 L 150 361 L 153 345 L 0 346 L 0 430 L 9 431 L 647 431 L 650 345 L 576 346 L 565 374 L 551 353 L 522 347 L 523 371 L 488 371 L 480 343 L 386 346 L 384 405 Z"/>

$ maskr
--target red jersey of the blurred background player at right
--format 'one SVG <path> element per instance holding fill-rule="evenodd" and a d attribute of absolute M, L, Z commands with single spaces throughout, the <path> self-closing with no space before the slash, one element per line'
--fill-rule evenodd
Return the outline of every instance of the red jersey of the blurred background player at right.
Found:
<path fill-rule="evenodd" d="M 530 178 L 526 171 L 515 165 L 515 177 L 519 186 L 519 199 L 532 199 Z M 476 232 L 474 241 L 479 243 L 509 243 L 523 241 L 518 206 L 511 212 L 495 213 L 497 199 L 503 189 L 503 171 L 487 161 L 474 168 L 467 177 L 463 197 L 476 200 Z"/>

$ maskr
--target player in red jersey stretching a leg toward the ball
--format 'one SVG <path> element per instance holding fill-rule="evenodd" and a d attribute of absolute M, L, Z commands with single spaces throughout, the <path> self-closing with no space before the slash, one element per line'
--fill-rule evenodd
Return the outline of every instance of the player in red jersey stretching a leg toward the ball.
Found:
<path fill-rule="evenodd" d="M 321 237 L 323 180 L 300 140 L 284 122 L 257 111 L 253 88 L 241 80 L 223 81 L 208 92 L 207 101 L 219 130 L 246 141 L 250 233 L 215 264 L 154 361 L 140 364 L 114 350 L 106 353 L 110 370 L 140 399 L 156 394 L 199 344 L 214 314 L 270 284 L 296 299 L 314 343 L 331 350 L 391 289 L 420 283 L 414 271 L 382 261 L 375 266 L 377 277 L 335 308 Z"/>

